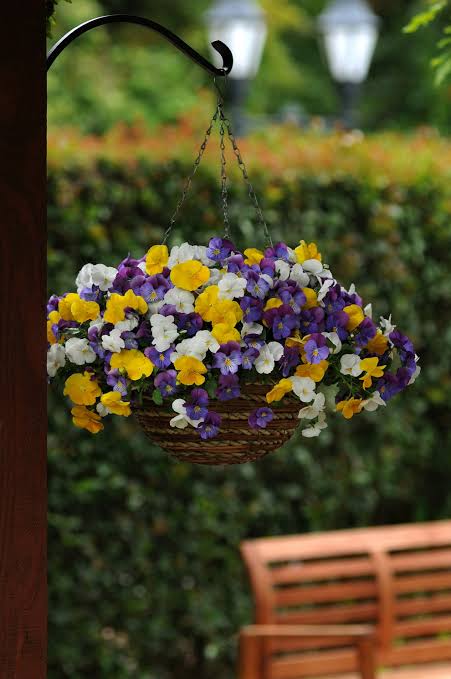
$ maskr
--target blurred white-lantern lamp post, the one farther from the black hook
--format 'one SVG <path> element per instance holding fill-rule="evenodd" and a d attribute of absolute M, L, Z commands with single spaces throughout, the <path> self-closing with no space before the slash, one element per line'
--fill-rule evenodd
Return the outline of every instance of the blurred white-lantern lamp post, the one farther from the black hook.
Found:
<path fill-rule="evenodd" d="M 340 88 L 342 120 L 348 128 L 356 123 L 358 95 L 376 48 L 379 22 L 366 0 L 333 0 L 318 17 L 329 70 Z"/>

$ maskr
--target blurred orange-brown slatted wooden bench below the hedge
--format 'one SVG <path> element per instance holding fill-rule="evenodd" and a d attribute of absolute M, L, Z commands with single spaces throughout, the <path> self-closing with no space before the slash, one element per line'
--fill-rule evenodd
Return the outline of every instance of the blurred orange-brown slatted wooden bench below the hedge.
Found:
<path fill-rule="evenodd" d="M 241 551 L 256 624 L 241 631 L 240 679 L 451 679 L 451 521 Z"/>

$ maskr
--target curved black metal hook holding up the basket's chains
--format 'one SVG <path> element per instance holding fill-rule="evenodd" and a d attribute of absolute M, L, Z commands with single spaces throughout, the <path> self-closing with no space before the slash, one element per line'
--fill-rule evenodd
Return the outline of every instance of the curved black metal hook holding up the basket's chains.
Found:
<path fill-rule="evenodd" d="M 139 26 L 145 26 L 146 28 L 150 28 L 151 30 L 155 31 L 156 33 L 159 33 L 164 38 L 166 38 L 166 40 L 171 42 L 178 50 L 183 52 L 183 54 L 185 54 L 187 57 L 192 59 L 192 61 L 194 61 L 196 64 L 204 68 L 211 75 L 223 77 L 228 75 L 232 70 L 233 54 L 227 47 L 227 45 L 221 42 L 220 40 L 215 40 L 214 42 L 211 43 L 214 49 L 221 55 L 223 61 L 222 68 L 216 68 L 216 66 L 213 66 L 213 64 L 207 61 L 207 59 L 205 59 L 201 54 L 196 52 L 196 50 L 194 50 L 181 38 L 175 35 L 175 33 L 172 33 L 172 31 L 165 28 L 165 26 L 158 24 L 156 21 L 146 19 L 145 17 L 133 16 L 132 14 L 109 14 L 106 16 L 97 17 L 95 19 L 90 19 L 89 21 L 85 21 L 83 24 L 80 24 L 76 28 L 73 28 L 71 31 L 69 31 L 69 33 L 66 33 L 66 35 L 64 35 L 61 38 L 61 40 L 58 40 L 58 42 L 52 47 L 52 49 L 47 55 L 47 71 L 49 70 L 50 66 L 53 64 L 55 59 L 58 57 L 58 55 L 60 55 L 61 52 L 71 42 L 78 38 L 79 35 L 83 35 L 83 33 L 86 33 L 87 31 L 90 31 L 92 28 L 96 28 L 97 26 L 104 26 L 105 24 L 116 24 L 116 23 L 138 24 Z"/>

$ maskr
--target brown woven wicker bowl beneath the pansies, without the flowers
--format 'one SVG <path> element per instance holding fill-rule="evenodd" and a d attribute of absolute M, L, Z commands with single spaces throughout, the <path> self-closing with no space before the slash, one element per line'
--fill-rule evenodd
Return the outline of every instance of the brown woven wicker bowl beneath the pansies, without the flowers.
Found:
<path fill-rule="evenodd" d="M 239 398 L 216 401 L 212 410 L 222 417 L 221 429 L 216 438 L 207 441 L 192 427 L 171 427 L 169 421 L 175 413 L 168 406 L 156 406 L 150 397 L 144 396 L 143 405 L 135 406 L 133 411 L 147 436 L 182 462 L 241 464 L 280 448 L 299 424 L 299 400 L 288 394 L 274 408 L 274 419 L 265 429 L 249 427 L 249 415 L 267 405 L 265 397 L 270 388 L 268 384 L 244 384 Z"/>

